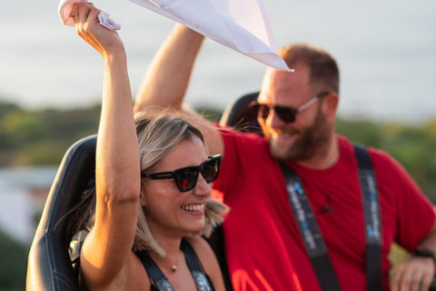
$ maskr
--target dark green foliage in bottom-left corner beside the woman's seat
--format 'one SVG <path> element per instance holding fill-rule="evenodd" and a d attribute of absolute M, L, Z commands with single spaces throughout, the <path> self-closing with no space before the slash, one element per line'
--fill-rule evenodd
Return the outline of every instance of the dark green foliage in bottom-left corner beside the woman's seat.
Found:
<path fill-rule="evenodd" d="M 0 290 L 25 290 L 28 251 L 0 232 Z"/>

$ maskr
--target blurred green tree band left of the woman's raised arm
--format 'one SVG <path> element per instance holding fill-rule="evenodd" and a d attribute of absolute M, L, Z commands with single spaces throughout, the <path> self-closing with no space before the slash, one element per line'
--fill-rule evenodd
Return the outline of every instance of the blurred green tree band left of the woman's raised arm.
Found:
<path fill-rule="evenodd" d="M 57 165 L 75 141 L 97 132 L 100 105 L 26 111 L 0 103 L 0 166 Z"/>

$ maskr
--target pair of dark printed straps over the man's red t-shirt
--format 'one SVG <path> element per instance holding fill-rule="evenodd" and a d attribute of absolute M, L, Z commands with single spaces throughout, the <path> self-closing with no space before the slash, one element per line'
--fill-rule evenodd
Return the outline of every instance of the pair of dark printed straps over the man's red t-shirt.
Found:
<path fill-rule="evenodd" d="M 359 179 L 365 220 L 367 290 L 381 290 L 381 220 L 377 184 L 368 151 L 354 145 L 359 164 Z M 279 161 L 288 191 L 292 213 L 302 236 L 306 253 L 322 290 L 340 291 L 336 273 L 330 260 L 327 246 L 319 229 L 312 206 L 306 196 L 302 181 L 295 171 Z"/>

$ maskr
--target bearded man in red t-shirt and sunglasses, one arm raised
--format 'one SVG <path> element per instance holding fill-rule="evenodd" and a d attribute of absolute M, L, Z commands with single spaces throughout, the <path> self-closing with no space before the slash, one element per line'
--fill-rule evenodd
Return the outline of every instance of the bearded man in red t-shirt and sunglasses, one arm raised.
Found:
<path fill-rule="evenodd" d="M 136 111 L 181 107 L 202 42 L 176 26 L 144 78 Z M 264 137 L 204 126 L 209 154 L 223 155 L 213 191 L 232 208 L 223 234 L 233 289 L 427 290 L 433 206 L 391 156 L 335 133 L 339 70 L 331 55 L 304 44 L 279 55 L 295 72 L 266 71 L 255 105 Z M 415 256 L 390 282 L 394 242 Z"/>

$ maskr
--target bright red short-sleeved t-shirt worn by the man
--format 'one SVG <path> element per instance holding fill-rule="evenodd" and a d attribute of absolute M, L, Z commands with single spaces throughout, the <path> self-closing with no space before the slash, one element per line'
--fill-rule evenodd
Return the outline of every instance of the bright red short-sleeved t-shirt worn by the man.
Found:
<path fill-rule="evenodd" d="M 232 207 L 223 230 L 234 291 L 321 290 L 268 141 L 223 131 L 224 159 L 213 196 Z M 338 135 L 340 158 L 327 170 L 290 163 L 316 214 L 342 290 L 365 290 L 365 232 L 354 148 Z M 430 201 L 388 154 L 369 148 L 381 207 L 382 286 L 389 290 L 391 244 L 412 251 L 433 226 Z"/>

